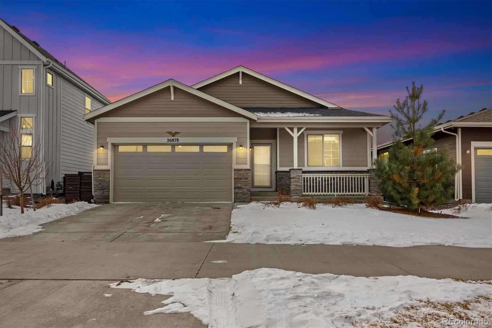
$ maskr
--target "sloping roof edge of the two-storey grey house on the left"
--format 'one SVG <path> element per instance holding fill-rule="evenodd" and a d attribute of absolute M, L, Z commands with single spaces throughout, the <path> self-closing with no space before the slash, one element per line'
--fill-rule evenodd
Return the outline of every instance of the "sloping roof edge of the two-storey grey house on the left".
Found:
<path fill-rule="evenodd" d="M 99 100 L 101 100 L 103 103 L 105 103 L 105 104 L 111 103 L 111 101 L 108 98 L 104 97 L 104 95 L 102 95 L 100 92 L 98 92 L 89 83 L 84 81 L 83 78 L 81 78 L 79 75 L 75 74 L 75 72 L 73 72 L 70 68 L 68 68 L 67 66 L 62 64 L 62 62 L 60 62 L 58 59 L 56 59 L 55 56 L 53 56 L 46 49 L 41 47 L 39 45 L 39 43 L 31 40 L 28 36 L 21 33 L 21 31 L 17 27 L 8 24 L 7 22 L 5 22 L 1 18 L 0 18 L 0 26 L 3 27 L 5 30 L 7 30 L 10 34 L 12 34 L 22 44 L 24 44 L 29 50 L 31 50 L 43 62 L 52 64 L 55 69 L 65 73 L 69 79 L 76 82 L 82 88 L 86 89 L 89 93 L 91 93 L 94 96 L 96 96 L 97 98 L 99 98 Z"/>

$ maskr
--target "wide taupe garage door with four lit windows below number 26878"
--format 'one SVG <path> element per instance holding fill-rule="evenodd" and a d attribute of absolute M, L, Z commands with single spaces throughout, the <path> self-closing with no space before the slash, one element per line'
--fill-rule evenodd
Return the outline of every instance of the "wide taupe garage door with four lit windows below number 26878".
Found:
<path fill-rule="evenodd" d="M 231 145 L 116 145 L 113 201 L 232 201 Z"/>

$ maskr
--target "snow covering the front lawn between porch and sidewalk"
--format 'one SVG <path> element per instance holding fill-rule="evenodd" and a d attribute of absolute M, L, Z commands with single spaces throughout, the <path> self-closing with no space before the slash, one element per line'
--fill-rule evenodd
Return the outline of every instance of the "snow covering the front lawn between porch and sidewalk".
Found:
<path fill-rule="evenodd" d="M 344 207 L 297 203 L 280 207 L 239 205 L 226 240 L 263 244 L 336 244 L 409 247 L 416 245 L 492 246 L 492 212 L 477 204 L 459 214 L 469 219 L 435 219 L 380 211 L 365 204 Z"/>

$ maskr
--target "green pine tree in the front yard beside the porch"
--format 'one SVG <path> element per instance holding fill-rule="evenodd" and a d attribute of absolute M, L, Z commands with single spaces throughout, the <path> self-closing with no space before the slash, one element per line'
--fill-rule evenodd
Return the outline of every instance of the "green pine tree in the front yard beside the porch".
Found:
<path fill-rule="evenodd" d="M 451 199 L 454 193 L 451 179 L 460 167 L 449 158 L 447 146 L 439 152 L 423 152 L 431 146 L 433 128 L 445 111 L 421 128 L 419 122 L 429 110 L 427 100 L 420 101 L 424 87 L 416 88 L 412 82 L 412 88 L 406 90 L 408 95 L 403 101 L 397 99 L 396 113 L 390 110 L 390 114 L 394 119 L 394 136 L 400 140 L 412 139 L 407 144 L 396 140 L 388 151 L 387 163 L 375 161 L 375 174 L 380 179 L 379 189 L 386 201 L 420 210 Z"/>

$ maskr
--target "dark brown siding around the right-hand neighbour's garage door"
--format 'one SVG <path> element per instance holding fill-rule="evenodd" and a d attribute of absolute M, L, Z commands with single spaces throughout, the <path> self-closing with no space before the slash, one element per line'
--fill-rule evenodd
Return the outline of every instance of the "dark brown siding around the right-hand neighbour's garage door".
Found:
<path fill-rule="evenodd" d="M 462 169 L 462 184 L 463 184 L 463 199 L 471 199 L 471 142 L 472 141 L 492 141 L 491 128 L 461 128 L 461 164 Z M 470 154 L 466 154 L 465 150 L 470 150 Z"/>

